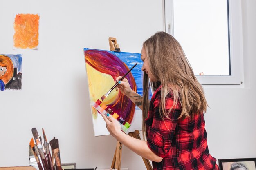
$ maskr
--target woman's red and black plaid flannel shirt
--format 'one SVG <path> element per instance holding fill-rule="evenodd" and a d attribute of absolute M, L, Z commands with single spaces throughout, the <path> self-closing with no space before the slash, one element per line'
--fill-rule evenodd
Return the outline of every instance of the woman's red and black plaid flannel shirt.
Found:
<path fill-rule="evenodd" d="M 148 147 L 162 157 L 160 163 L 152 162 L 153 170 L 219 170 L 216 159 L 209 154 L 204 114 L 194 118 L 178 119 L 180 103 L 174 107 L 169 118 L 159 115 L 161 86 L 153 94 L 145 119 Z M 166 110 L 173 105 L 173 96 L 166 99 Z"/>

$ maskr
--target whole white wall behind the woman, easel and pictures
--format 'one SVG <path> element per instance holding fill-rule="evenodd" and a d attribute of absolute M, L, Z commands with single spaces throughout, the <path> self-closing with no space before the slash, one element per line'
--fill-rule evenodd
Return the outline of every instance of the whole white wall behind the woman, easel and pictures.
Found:
<path fill-rule="evenodd" d="M 27 166 L 31 128 L 59 139 L 61 161 L 109 168 L 116 141 L 94 137 L 83 47 L 140 53 L 162 31 L 162 0 L 0 0 L 0 54 L 23 55 L 22 91 L 0 93 L 0 166 Z M 216 159 L 256 157 L 256 2 L 243 0 L 244 86 L 205 87 L 210 153 Z M 13 50 L 13 13 L 40 13 L 39 49 Z M 41 133 L 41 132 L 40 132 Z M 122 168 L 146 169 L 123 148 Z"/>

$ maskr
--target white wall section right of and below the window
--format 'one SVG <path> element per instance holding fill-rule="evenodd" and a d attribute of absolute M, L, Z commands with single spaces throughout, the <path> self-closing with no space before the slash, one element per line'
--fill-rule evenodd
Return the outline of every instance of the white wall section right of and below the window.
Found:
<path fill-rule="evenodd" d="M 243 88 L 205 87 L 208 144 L 217 159 L 256 157 L 255 7 L 255 0 L 242 0 Z"/>

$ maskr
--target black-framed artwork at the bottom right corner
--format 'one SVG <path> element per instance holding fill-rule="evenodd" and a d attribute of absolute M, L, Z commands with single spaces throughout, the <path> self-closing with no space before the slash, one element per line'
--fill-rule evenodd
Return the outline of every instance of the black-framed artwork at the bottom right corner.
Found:
<path fill-rule="evenodd" d="M 219 159 L 220 170 L 256 170 L 256 158 Z"/>

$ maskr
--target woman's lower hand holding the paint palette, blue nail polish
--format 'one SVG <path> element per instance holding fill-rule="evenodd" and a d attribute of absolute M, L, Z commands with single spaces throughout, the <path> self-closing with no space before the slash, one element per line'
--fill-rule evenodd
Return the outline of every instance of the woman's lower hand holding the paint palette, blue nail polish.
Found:
<path fill-rule="evenodd" d="M 117 119 L 114 119 L 112 115 L 107 113 L 107 116 L 101 114 L 103 119 L 106 121 L 106 128 L 108 129 L 108 132 L 110 132 L 110 135 L 115 137 L 119 137 L 123 132 L 121 131 L 121 125 L 117 121 Z"/>

